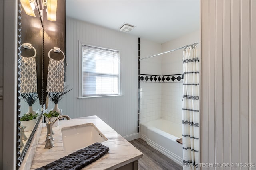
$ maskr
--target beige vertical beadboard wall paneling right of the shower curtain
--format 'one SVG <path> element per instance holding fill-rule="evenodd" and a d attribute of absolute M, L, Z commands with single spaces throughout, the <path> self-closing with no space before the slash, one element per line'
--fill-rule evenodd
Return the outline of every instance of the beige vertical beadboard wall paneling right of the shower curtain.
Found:
<path fill-rule="evenodd" d="M 256 168 L 244 165 L 256 162 L 254 9 L 255 0 L 202 1 L 201 163 Z"/>

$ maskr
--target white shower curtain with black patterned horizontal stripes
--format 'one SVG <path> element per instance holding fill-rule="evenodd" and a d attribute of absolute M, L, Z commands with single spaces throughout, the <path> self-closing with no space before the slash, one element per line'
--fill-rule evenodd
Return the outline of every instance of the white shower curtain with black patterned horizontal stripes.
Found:
<path fill-rule="evenodd" d="M 199 162 L 199 50 L 183 51 L 182 147 L 183 169 L 196 170 Z"/>

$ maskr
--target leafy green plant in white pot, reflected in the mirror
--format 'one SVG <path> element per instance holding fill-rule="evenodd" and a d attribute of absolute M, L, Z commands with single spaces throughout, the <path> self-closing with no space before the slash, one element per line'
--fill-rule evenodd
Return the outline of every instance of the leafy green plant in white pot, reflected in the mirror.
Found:
<path fill-rule="evenodd" d="M 21 125 L 22 126 L 26 126 L 26 128 L 24 129 L 24 132 L 27 131 L 32 131 L 34 128 L 34 125 L 36 124 L 36 118 L 38 117 L 38 114 L 24 114 L 22 117 L 20 117 L 20 121 L 21 121 Z"/>

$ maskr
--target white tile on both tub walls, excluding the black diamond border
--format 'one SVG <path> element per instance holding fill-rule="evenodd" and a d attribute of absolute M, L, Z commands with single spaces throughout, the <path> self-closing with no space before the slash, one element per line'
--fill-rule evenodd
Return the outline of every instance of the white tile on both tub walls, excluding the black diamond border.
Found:
<path fill-rule="evenodd" d="M 146 47 L 151 48 L 147 52 L 144 51 L 147 49 L 141 48 L 141 53 L 143 54 L 141 58 L 199 42 L 199 38 L 199 30 L 189 33 L 162 44 L 160 52 L 158 52 L 159 44 L 142 41 L 141 45 L 145 43 Z M 156 52 L 152 50 L 152 45 L 155 46 Z M 144 53 L 147 53 L 147 55 L 144 55 Z M 183 51 L 180 49 L 162 56 L 142 60 L 140 63 L 140 74 L 182 74 L 182 59 Z M 182 82 L 140 83 L 140 122 L 162 118 L 182 124 L 182 88 Z"/>

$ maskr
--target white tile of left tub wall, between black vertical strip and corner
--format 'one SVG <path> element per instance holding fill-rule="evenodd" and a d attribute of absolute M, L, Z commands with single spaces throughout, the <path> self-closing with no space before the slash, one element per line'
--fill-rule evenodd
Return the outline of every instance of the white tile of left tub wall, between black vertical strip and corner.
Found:
<path fill-rule="evenodd" d="M 140 59 L 161 53 L 161 44 L 140 39 Z M 161 75 L 161 57 L 140 61 L 140 74 Z M 161 84 L 140 83 L 140 122 L 161 117 Z"/>

